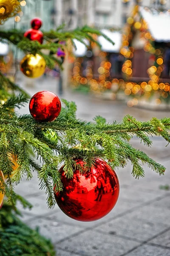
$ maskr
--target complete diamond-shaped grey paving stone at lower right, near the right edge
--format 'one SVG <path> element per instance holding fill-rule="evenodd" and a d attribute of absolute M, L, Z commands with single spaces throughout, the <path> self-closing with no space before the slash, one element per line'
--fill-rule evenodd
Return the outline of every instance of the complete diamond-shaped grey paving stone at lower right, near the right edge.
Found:
<path fill-rule="evenodd" d="M 114 236 L 124 236 L 127 239 L 134 239 L 137 241 L 147 241 L 153 236 L 159 234 L 167 228 L 166 224 L 162 224 L 161 220 L 159 223 L 154 221 L 148 221 L 136 216 L 131 216 L 127 214 L 116 220 L 109 221 L 106 224 L 102 224 L 96 227 L 95 230 L 99 232 L 104 232 L 107 234 L 113 234 Z"/>

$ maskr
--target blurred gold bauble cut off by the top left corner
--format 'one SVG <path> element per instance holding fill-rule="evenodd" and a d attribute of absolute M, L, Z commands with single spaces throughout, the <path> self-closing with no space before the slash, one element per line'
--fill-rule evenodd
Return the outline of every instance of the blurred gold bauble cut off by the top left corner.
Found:
<path fill-rule="evenodd" d="M 18 0 L 0 0 L 0 24 L 3 24 L 9 17 L 15 16 L 20 10 Z"/>

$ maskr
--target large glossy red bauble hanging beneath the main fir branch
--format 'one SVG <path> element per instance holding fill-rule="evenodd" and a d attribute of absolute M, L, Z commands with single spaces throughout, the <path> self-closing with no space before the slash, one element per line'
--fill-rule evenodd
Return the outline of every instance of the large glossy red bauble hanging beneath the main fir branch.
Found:
<path fill-rule="evenodd" d="M 96 221 L 107 215 L 119 197 L 119 180 L 111 167 L 102 159 L 96 159 L 88 172 L 80 172 L 84 162 L 77 160 L 74 176 L 65 176 L 61 167 L 63 191 L 55 193 L 59 208 L 77 221 Z M 55 188 L 54 188 L 55 189 Z"/>

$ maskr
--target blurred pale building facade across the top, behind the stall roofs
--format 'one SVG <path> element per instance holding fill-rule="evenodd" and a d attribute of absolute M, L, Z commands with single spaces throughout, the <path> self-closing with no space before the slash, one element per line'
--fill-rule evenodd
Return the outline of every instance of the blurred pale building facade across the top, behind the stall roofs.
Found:
<path fill-rule="evenodd" d="M 169 0 L 23 0 L 23 13 L 19 18 L 6 22 L 6 28 L 17 26 L 28 29 L 33 17 L 41 17 L 43 29 L 59 26 L 65 23 L 67 28 L 75 29 L 85 24 L 97 28 L 121 29 L 126 23 L 134 4 L 153 7 L 154 9 L 169 9 Z M 17 24 L 16 24 L 17 23 Z"/>

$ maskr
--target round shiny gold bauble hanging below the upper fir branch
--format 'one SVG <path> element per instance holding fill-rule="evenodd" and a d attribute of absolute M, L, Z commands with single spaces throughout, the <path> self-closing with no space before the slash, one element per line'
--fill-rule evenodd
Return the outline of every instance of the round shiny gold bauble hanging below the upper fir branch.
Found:
<path fill-rule="evenodd" d="M 20 69 L 24 75 L 29 78 L 37 78 L 45 72 L 46 62 L 45 59 L 36 54 L 27 54 L 20 63 Z"/>

